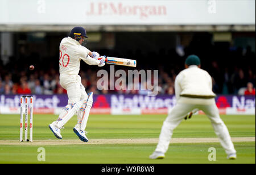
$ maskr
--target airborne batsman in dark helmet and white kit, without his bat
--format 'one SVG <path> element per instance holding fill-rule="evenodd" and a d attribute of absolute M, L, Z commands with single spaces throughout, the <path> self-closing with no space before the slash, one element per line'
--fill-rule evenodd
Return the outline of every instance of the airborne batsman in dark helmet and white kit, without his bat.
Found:
<path fill-rule="evenodd" d="M 77 124 L 73 128 L 80 140 L 87 142 L 86 123 L 93 104 L 93 93 L 87 94 L 79 76 L 80 61 L 89 65 L 105 65 L 105 57 L 91 52 L 85 47 L 86 31 L 82 27 L 74 27 L 70 35 L 60 42 L 60 85 L 67 90 L 68 105 L 65 106 L 56 121 L 49 124 L 50 130 L 58 139 L 62 139 L 60 128 L 77 114 Z"/>

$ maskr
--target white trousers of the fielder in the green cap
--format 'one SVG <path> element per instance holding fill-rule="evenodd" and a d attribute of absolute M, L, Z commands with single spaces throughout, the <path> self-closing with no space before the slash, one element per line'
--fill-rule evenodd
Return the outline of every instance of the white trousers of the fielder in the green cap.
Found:
<path fill-rule="evenodd" d="M 181 97 L 183 98 L 183 97 Z M 202 99 L 201 101 L 204 101 Z M 159 136 L 159 143 L 155 151 L 160 151 L 166 153 L 171 141 L 174 129 L 180 124 L 184 117 L 191 112 L 193 109 L 199 109 L 204 111 L 204 113 L 210 119 L 212 123 L 213 130 L 218 136 L 222 147 L 225 149 L 226 154 L 236 153 L 234 145 L 229 135 L 228 128 L 225 126 L 224 122 L 221 120 L 216 103 L 211 105 L 201 105 L 199 104 L 187 104 L 187 103 L 177 103 L 176 106 L 171 110 L 170 114 L 167 116 L 166 120 L 163 122 L 162 130 Z M 204 103 L 203 103 L 204 104 Z"/>

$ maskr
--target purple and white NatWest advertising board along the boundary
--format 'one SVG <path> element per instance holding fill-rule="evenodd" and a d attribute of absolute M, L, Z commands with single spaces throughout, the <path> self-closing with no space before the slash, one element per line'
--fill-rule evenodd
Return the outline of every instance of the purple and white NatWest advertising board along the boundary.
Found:
<path fill-rule="evenodd" d="M 18 114 L 20 95 L 0 95 L 0 114 Z M 255 115 L 255 96 L 218 95 L 221 114 Z M 67 95 L 34 95 L 34 113 L 59 114 L 68 103 Z M 174 95 L 93 94 L 90 114 L 168 114 L 176 105 Z"/>

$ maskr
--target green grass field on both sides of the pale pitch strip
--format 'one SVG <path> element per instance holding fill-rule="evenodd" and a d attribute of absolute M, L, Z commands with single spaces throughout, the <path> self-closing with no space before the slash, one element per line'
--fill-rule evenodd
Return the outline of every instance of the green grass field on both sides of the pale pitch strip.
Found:
<path fill-rule="evenodd" d="M 166 115 L 90 115 L 86 131 L 89 139 L 158 138 Z M 222 115 L 232 138 L 255 137 L 255 115 Z M 56 140 L 48 124 L 57 115 L 34 115 L 34 142 Z M 150 160 L 155 144 L 70 144 L 19 145 L 19 115 L 0 115 L 0 163 L 86 163 L 86 164 L 255 164 L 255 141 L 234 142 L 236 160 L 227 160 L 220 143 L 171 143 L 166 158 Z M 73 116 L 61 130 L 63 140 L 79 140 L 72 128 Z M 209 119 L 195 115 L 184 120 L 173 138 L 216 138 Z M 13 144 L 1 144 L 3 140 Z M 90 140 L 89 140 L 90 141 Z M 46 161 L 38 161 L 38 148 L 46 150 Z M 208 160 L 208 149 L 216 148 L 216 161 Z"/>

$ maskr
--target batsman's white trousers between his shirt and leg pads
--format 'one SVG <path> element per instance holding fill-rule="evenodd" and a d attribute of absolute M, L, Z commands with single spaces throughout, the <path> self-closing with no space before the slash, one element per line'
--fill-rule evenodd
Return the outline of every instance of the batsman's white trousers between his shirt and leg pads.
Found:
<path fill-rule="evenodd" d="M 88 98 L 79 75 L 60 74 L 60 85 L 67 90 L 70 105 Z"/>

